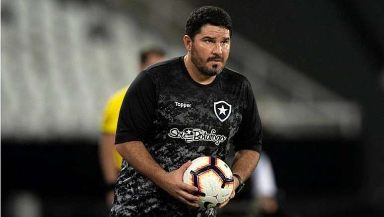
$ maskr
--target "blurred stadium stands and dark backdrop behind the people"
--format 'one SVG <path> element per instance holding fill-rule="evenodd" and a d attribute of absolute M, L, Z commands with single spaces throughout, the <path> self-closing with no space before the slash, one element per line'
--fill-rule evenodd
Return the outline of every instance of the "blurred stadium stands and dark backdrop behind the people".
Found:
<path fill-rule="evenodd" d="M 260 212 L 253 176 L 221 216 L 384 216 L 383 1 L 1 0 L 2 216 L 108 216 L 105 103 L 140 49 L 186 53 L 202 5 L 232 17 L 227 66 L 253 85 L 278 204 Z"/>

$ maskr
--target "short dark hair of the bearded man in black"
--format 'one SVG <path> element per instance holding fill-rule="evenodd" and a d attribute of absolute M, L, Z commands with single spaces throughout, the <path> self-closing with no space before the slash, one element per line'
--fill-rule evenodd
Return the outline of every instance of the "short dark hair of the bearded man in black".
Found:
<path fill-rule="evenodd" d="M 231 16 L 224 9 L 215 6 L 203 6 L 192 11 L 187 20 L 185 34 L 193 40 L 194 36 L 200 33 L 201 26 L 205 24 L 226 28 L 232 35 Z"/>

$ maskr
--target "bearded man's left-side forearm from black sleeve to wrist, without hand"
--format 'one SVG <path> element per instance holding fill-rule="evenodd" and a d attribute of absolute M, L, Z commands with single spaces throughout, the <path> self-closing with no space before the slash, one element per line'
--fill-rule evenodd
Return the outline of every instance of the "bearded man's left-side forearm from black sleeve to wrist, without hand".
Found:
<path fill-rule="evenodd" d="M 158 186 L 162 184 L 163 175 L 167 172 L 153 159 L 142 142 L 132 141 L 117 144 L 116 148 L 120 155 L 122 155 L 137 172 Z"/>

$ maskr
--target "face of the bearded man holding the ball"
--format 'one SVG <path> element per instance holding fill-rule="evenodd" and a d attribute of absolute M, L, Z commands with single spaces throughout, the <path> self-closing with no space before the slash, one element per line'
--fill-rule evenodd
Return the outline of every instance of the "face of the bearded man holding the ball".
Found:
<path fill-rule="evenodd" d="M 200 30 L 192 41 L 192 63 L 208 76 L 217 75 L 224 69 L 229 57 L 229 30 L 210 24 L 202 26 Z"/>

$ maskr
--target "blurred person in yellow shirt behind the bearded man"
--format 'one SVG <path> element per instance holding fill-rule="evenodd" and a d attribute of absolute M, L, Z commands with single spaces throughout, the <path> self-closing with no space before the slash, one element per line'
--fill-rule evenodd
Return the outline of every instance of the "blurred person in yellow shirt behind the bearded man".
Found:
<path fill-rule="evenodd" d="M 140 52 L 140 71 L 149 65 L 163 61 L 165 52 L 156 47 L 150 47 Z M 100 165 L 106 183 L 106 202 L 111 207 L 116 179 L 122 164 L 122 157 L 115 148 L 115 134 L 120 107 L 128 86 L 113 94 L 104 109 L 101 126 L 101 141 L 99 147 Z"/>

